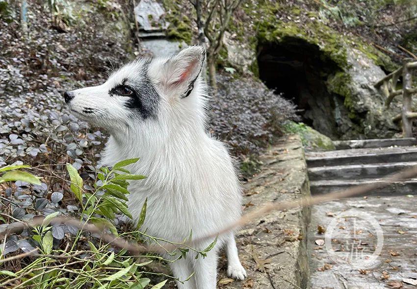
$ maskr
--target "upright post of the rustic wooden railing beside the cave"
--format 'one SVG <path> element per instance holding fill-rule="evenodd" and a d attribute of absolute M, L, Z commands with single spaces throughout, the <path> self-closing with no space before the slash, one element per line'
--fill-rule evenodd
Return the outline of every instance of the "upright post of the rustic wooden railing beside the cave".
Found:
<path fill-rule="evenodd" d="M 410 138 L 413 136 L 412 122 L 413 120 L 408 117 L 411 113 L 411 90 L 412 90 L 412 74 L 409 71 L 408 63 L 413 61 L 412 58 L 406 58 L 403 61 L 403 93 L 402 93 L 402 131 L 404 138 Z"/>

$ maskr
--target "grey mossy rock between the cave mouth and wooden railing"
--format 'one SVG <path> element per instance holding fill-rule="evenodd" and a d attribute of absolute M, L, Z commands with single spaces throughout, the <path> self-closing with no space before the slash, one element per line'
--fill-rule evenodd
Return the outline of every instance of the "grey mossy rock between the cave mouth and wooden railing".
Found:
<path fill-rule="evenodd" d="M 344 72 L 329 76 L 329 92 L 343 96 L 343 103 L 335 108 L 340 139 L 390 138 L 398 127 L 392 117 L 399 113 L 397 101 L 390 109 L 384 108 L 384 97 L 373 84 L 384 77 L 385 72 L 364 52 L 346 48 L 348 66 Z"/>

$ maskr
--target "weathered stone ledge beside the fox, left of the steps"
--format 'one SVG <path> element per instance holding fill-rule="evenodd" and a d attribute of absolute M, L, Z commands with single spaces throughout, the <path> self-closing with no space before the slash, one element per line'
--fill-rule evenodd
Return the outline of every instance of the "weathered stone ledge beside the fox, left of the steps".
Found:
<path fill-rule="evenodd" d="M 309 196 L 307 168 L 298 136 L 287 136 L 261 156 L 261 172 L 244 187 L 244 213 L 269 202 Z M 219 288 L 306 288 L 308 208 L 272 212 L 241 228 L 236 235 L 239 257 L 248 277 L 229 279 L 227 262 L 220 260 Z"/>

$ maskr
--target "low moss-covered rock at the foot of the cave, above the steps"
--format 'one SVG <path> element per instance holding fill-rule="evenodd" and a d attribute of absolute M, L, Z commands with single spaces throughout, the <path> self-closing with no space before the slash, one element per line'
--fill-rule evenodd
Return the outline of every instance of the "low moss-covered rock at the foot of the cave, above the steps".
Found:
<path fill-rule="evenodd" d="M 284 124 L 283 131 L 288 134 L 298 134 L 306 149 L 322 151 L 336 149 L 329 137 L 302 122 L 297 123 L 289 120 Z"/>

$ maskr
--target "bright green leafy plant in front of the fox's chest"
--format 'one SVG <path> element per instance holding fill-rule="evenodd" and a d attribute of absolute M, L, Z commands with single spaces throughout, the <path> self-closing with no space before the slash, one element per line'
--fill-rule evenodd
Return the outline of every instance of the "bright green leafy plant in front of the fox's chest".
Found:
<path fill-rule="evenodd" d="M 190 251 L 196 253 L 195 258 L 207 256 L 207 252 L 213 248 L 216 240 L 206 249 L 199 251 L 187 245 L 192 234 L 182 242 L 172 242 L 146 234 L 146 228 L 142 228 L 146 218 L 146 200 L 133 229 L 123 231 L 115 223 L 117 217 L 120 216 L 132 218 L 127 205 L 129 181 L 141 180 L 145 176 L 131 174 L 126 167 L 138 160 L 122 161 L 114 165 L 112 169 L 101 168 L 97 174 L 98 180 L 94 184 L 94 192 L 85 189 L 83 179 L 77 169 L 67 164 L 66 168 L 71 180 L 69 188 L 79 204 L 79 211 L 74 216 L 68 216 L 73 218 L 63 217 L 61 211 L 56 211 L 29 227 L 26 231 L 27 237 L 16 241 L 15 244 L 18 242 L 18 245 L 26 244 L 25 249 L 30 249 L 29 253 L 36 252 L 36 256 L 26 257 L 25 255 L 25 259 L 21 257 L 20 269 L 5 262 L 7 246 L 4 243 L 0 247 L 0 265 L 2 266 L 0 288 L 144 289 L 157 283 L 152 288 L 158 289 L 166 284 L 167 277 L 174 277 L 151 271 L 148 267 L 150 263 L 155 260 L 176 262 Z M 38 183 L 39 178 L 33 175 L 29 177 L 28 173 L 20 171 L 24 168 L 28 167 L 8 166 L 1 168 L 0 172 L 18 171 L 19 174 L 15 173 L 13 180 Z M 4 176 L 7 177 L 6 174 L 1 177 Z M 12 178 L 5 179 L 11 180 Z M 65 222 L 66 219 L 76 221 L 80 225 L 74 226 L 74 222 L 70 225 L 69 222 Z M 89 229 L 91 224 L 95 225 L 95 230 Z M 70 229 L 72 234 L 65 234 L 64 237 L 63 227 Z M 101 233 L 98 234 L 98 232 Z M 103 238 L 103 234 L 110 236 L 111 240 Z M 130 243 L 146 240 L 174 257 L 171 260 L 165 260 L 148 251 L 145 251 L 143 255 L 135 254 L 133 257 L 127 247 L 116 246 L 113 243 L 116 239 Z M 25 252 L 23 248 L 22 250 Z"/>

